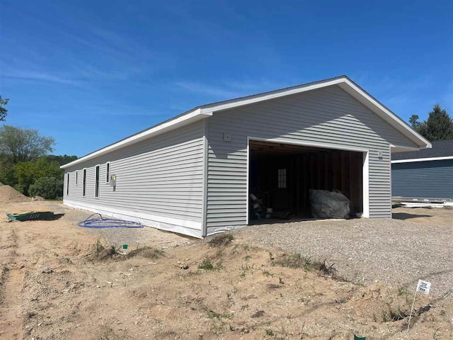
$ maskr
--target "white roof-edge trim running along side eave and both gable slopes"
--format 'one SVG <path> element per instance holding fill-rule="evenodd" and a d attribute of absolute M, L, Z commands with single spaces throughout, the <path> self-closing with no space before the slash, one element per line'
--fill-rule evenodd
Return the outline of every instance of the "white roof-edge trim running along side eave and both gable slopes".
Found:
<path fill-rule="evenodd" d="M 379 103 L 379 101 L 377 101 L 372 96 L 367 94 L 366 91 L 361 89 L 360 86 L 355 84 L 348 77 L 341 76 L 332 79 L 326 79 L 323 81 L 316 81 L 314 83 L 292 86 L 287 89 L 265 92 L 264 94 L 256 94 L 253 96 L 231 99 L 230 101 L 222 101 L 219 103 L 212 103 L 207 104 L 205 106 L 200 106 L 198 108 L 194 108 L 191 111 L 188 111 L 187 113 L 183 113 L 183 115 L 179 115 L 176 118 L 173 118 L 159 125 L 155 125 L 152 128 L 139 132 L 136 135 L 132 135 L 130 137 L 125 138 L 124 140 L 120 140 L 119 142 L 115 142 L 112 145 L 108 145 L 107 147 L 103 147 L 102 149 L 92 152 L 91 154 L 87 154 L 84 157 L 76 159 L 74 162 L 64 164 L 60 166 L 60 168 L 66 169 L 69 166 L 73 166 L 75 164 L 84 162 L 88 159 L 93 159 L 94 157 L 98 157 L 102 154 L 112 152 L 115 149 L 120 149 L 122 147 L 126 147 L 127 145 L 132 145 L 142 140 L 146 140 L 147 138 L 154 137 L 163 132 L 174 130 L 184 125 L 194 123 L 197 120 L 208 118 L 214 112 L 224 111 L 230 108 L 237 108 L 239 106 L 250 105 L 253 103 L 258 103 L 260 101 L 268 101 L 270 99 L 280 98 L 283 96 L 300 94 L 302 92 L 321 89 L 323 87 L 333 85 L 340 86 L 341 89 L 348 92 L 348 94 L 357 99 L 357 101 L 360 101 L 360 103 L 367 106 L 367 108 L 369 108 L 371 111 L 379 115 L 379 117 L 386 120 L 387 123 L 394 126 L 394 128 L 396 128 L 399 132 L 408 137 L 409 140 L 412 140 L 415 143 L 415 145 L 418 146 L 418 149 L 431 147 L 431 143 L 428 142 L 428 140 L 426 140 L 423 136 L 418 134 L 418 132 L 415 132 L 415 130 L 413 130 L 409 125 L 404 123 L 403 120 L 398 118 L 398 116 L 395 113 L 391 112 L 388 108 Z M 411 147 L 411 149 L 413 149 L 413 147 Z"/>

